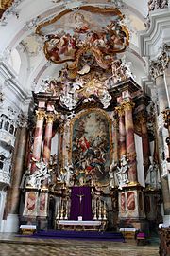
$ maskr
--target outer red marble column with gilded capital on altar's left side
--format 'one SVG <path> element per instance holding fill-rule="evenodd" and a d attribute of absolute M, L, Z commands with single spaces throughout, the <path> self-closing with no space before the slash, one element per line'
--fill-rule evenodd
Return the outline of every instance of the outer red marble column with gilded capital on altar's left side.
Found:
<path fill-rule="evenodd" d="M 37 123 L 34 135 L 34 144 L 33 144 L 33 153 L 32 158 L 40 161 L 41 153 L 42 153 L 42 133 L 43 133 L 43 120 L 45 117 L 45 111 L 38 110 L 36 112 L 37 115 Z M 35 162 L 32 163 L 31 173 L 34 173 L 36 170 Z"/>

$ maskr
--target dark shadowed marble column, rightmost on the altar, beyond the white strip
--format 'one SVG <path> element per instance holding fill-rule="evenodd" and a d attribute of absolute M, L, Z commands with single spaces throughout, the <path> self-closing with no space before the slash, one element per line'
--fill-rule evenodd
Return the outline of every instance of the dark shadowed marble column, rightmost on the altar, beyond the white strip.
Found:
<path fill-rule="evenodd" d="M 142 135 L 143 155 L 144 155 L 144 178 L 146 178 L 147 171 L 150 164 L 149 162 L 150 147 L 149 147 L 149 138 L 148 138 L 148 132 L 147 132 L 147 119 L 144 111 L 138 114 L 138 119 L 141 124 L 141 135 Z"/>

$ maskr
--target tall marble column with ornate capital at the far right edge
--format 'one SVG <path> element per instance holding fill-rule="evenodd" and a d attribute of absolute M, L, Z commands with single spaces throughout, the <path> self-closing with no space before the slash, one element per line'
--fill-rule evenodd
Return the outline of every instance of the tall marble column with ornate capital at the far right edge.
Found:
<path fill-rule="evenodd" d="M 162 163 L 167 159 L 168 153 L 166 152 L 167 145 L 166 145 L 166 137 L 168 134 L 164 131 L 164 123 L 162 121 L 162 112 L 166 111 L 170 108 L 170 95 L 169 95 L 169 51 L 170 47 L 164 45 L 162 47 L 161 55 L 158 59 L 151 61 L 150 63 L 150 76 L 155 81 L 156 88 L 157 88 L 157 95 L 158 95 L 158 106 L 159 106 L 159 115 L 161 119 L 161 125 L 159 131 L 157 131 L 159 147 L 163 148 L 164 151 L 162 152 L 165 155 L 165 159 L 163 156 L 160 157 L 160 165 L 161 165 L 161 174 L 163 174 Z M 162 197 L 163 197 L 163 208 L 164 208 L 164 216 L 170 215 L 170 188 L 168 184 L 168 179 L 161 176 L 161 190 L 162 190 Z M 170 221 L 169 221 L 170 223 Z"/>

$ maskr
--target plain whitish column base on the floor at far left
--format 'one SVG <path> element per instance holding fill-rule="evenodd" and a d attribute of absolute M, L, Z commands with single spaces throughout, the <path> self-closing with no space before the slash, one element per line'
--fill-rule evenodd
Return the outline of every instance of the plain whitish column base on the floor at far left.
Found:
<path fill-rule="evenodd" d="M 7 220 L 4 223 L 3 232 L 17 233 L 19 231 L 18 214 L 8 214 Z"/>

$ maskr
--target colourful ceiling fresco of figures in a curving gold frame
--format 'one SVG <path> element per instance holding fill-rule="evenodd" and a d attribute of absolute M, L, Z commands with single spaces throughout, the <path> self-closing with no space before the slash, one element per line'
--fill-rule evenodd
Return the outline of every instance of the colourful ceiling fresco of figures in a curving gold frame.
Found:
<path fill-rule="evenodd" d="M 89 73 L 93 64 L 110 68 L 116 53 L 125 51 L 129 44 L 123 15 L 118 9 L 85 6 L 65 10 L 37 27 L 36 32 L 47 39 L 46 58 L 56 64 L 69 62 L 72 78 Z"/>

